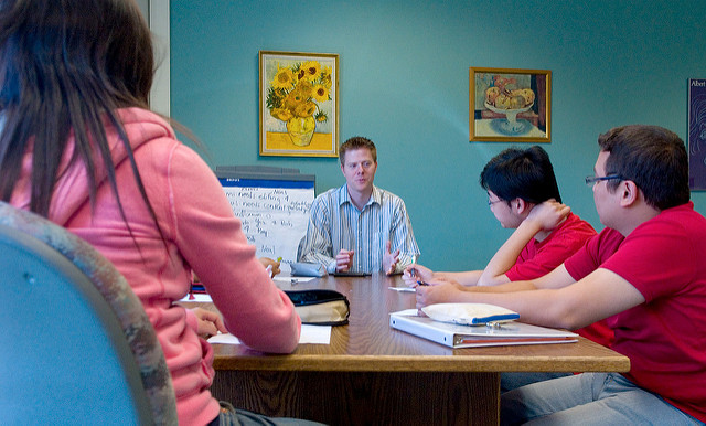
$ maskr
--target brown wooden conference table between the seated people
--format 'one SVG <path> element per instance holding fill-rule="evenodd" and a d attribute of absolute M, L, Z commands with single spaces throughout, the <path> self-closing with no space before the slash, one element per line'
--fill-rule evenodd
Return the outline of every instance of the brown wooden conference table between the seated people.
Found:
<path fill-rule="evenodd" d="M 628 358 L 578 343 L 450 349 L 392 329 L 389 312 L 414 308 L 399 276 L 327 277 L 284 290 L 335 289 L 351 302 L 350 324 L 331 344 L 290 355 L 214 344 L 214 396 L 270 416 L 331 425 L 496 425 L 501 372 L 625 372 Z"/>

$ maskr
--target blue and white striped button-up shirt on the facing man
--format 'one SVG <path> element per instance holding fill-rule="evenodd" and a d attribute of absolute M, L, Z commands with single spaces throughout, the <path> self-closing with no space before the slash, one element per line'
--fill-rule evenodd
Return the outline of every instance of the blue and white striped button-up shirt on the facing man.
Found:
<path fill-rule="evenodd" d="M 344 184 L 320 194 L 311 204 L 299 262 L 320 263 L 333 273 L 335 256 L 341 249 L 347 249 L 355 252 L 351 271 L 383 271 L 387 241 L 392 242 L 393 253 L 399 248 L 395 273 L 404 270 L 419 255 L 405 202 L 373 187 L 371 199 L 360 211 Z"/>

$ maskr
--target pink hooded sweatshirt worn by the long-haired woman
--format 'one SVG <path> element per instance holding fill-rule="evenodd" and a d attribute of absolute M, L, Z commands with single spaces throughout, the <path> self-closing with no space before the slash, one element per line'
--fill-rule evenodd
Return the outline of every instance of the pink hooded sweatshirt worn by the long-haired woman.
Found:
<path fill-rule="evenodd" d="M 195 271 L 224 317 L 227 329 L 248 347 L 289 353 L 301 322 L 289 298 L 269 278 L 248 245 L 240 221 L 208 166 L 179 142 L 159 116 L 139 108 L 118 111 L 135 152 L 162 241 L 132 177 L 122 142 L 107 129 L 118 191 L 130 236 L 105 170 L 92 213 L 82 162 L 56 183 L 49 219 L 84 238 L 118 268 L 142 301 L 171 371 L 179 423 L 204 425 L 218 414 L 212 383 L 213 350 L 196 334 L 196 317 L 174 303 L 190 289 Z M 69 145 L 63 167 L 73 152 Z M 29 209 L 32 152 L 23 159 L 11 204 Z M 137 243 L 137 247 L 136 247 Z"/>

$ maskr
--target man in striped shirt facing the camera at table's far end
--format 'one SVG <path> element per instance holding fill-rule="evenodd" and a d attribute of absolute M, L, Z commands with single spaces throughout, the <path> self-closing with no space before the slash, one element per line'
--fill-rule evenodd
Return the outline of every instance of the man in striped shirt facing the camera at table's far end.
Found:
<path fill-rule="evenodd" d="M 339 157 L 345 184 L 320 194 L 311 205 L 299 262 L 341 271 L 402 273 L 419 255 L 404 201 L 373 184 L 375 143 L 353 137 Z"/>

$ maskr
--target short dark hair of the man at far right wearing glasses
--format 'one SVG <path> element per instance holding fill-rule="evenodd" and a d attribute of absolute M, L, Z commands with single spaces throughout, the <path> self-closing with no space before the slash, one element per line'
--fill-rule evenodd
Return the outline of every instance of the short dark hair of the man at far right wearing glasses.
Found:
<path fill-rule="evenodd" d="M 609 152 L 606 175 L 630 180 L 644 194 L 645 202 L 659 210 L 687 203 L 688 157 L 684 141 L 659 126 L 616 127 L 598 137 L 602 151 Z M 620 180 L 608 182 L 614 191 Z"/>

